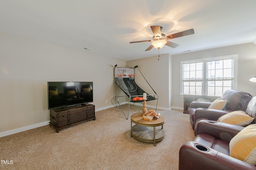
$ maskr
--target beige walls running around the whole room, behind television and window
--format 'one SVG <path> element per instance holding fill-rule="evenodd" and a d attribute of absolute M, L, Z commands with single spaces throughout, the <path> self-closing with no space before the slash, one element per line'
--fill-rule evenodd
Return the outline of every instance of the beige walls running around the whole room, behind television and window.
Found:
<path fill-rule="evenodd" d="M 237 90 L 256 96 L 256 83 L 249 81 L 256 76 L 256 45 L 253 43 L 174 56 L 164 54 L 159 61 L 158 56 L 154 56 L 126 62 L 97 56 L 93 51 L 67 49 L 4 32 L 0 32 L 0 47 L 0 133 L 49 121 L 48 81 L 93 81 L 92 104 L 96 109 L 112 107 L 115 64 L 118 67 L 138 65 L 159 94 L 158 108 L 182 109 L 180 61 L 238 54 Z M 156 101 L 147 105 L 155 106 Z"/>

